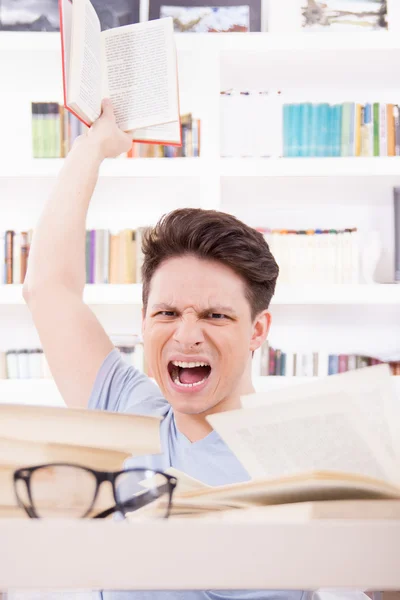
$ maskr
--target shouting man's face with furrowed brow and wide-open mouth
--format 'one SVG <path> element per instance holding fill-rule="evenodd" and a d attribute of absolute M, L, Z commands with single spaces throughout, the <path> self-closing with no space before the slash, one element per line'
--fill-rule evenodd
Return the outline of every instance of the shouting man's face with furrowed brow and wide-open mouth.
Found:
<path fill-rule="evenodd" d="M 146 361 L 164 396 L 183 414 L 232 406 L 250 353 L 264 341 L 269 314 L 254 321 L 242 279 L 193 256 L 155 272 L 143 320 Z"/>

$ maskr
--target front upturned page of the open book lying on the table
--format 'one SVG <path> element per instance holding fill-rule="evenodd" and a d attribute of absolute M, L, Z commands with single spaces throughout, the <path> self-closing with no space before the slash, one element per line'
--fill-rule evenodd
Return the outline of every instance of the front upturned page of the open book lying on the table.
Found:
<path fill-rule="evenodd" d="M 399 480 L 395 461 L 350 397 L 332 393 L 322 401 L 274 403 L 207 420 L 254 478 L 340 471 Z"/>

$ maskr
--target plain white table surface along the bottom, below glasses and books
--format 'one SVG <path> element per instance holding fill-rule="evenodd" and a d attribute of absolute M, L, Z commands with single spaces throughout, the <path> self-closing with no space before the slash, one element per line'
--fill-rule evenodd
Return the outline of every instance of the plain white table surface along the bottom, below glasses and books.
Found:
<path fill-rule="evenodd" d="M 0 520 L 0 590 L 400 589 L 400 520 Z"/>

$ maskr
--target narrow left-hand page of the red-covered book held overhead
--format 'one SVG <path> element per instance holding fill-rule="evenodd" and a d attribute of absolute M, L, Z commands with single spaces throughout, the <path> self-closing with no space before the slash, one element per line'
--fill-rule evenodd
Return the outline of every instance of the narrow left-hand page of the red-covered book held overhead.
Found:
<path fill-rule="evenodd" d="M 91 2 L 74 2 L 67 101 L 89 124 L 101 112 L 100 32 L 100 21 Z"/>

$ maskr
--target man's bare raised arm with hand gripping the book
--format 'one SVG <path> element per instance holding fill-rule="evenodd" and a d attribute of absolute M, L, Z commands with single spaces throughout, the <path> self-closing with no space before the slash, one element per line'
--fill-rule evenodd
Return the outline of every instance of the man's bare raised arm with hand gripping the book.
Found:
<path fill-rule="evenodd" d="M 66 404 L 85 407 L 96 373 L 113 345 L 83 302 L 86 216 L 104 158 L 129 150 L 111 103 L 74 143 L 32 239 L 24 299 Z"/>

